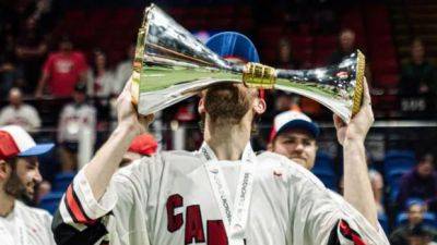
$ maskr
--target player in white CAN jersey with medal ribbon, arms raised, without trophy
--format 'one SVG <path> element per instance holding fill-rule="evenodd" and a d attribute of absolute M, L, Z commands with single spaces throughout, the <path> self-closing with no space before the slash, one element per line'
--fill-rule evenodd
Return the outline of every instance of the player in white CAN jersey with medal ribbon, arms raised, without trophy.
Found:
<path fill-rule="evenodd" d="M 237 39 L 226 44 L 240 47 Z M 202 93 L 199 151 L 162 151 L 116 172 L 132 138 L 153 119 L 137 114 L 130 89 L 128 82 L 118 98 L 117 128 L 59 206 L 52 224 L 58 244 L 389 244 L 373 203 L 357 211 L 285 157 L 255 155 L 252 121 L 265 102 L 243 84 Z M 371 112 L 369 103 L 365 86 L 362 111 Z M 371 121 L 355 133 L 364 138 Z M 358 148 L 345 158 L 362 160 Z M 349 201 L 371 196 L 367 172 L 357 167 L 347 174 L 356 191 Z"/>

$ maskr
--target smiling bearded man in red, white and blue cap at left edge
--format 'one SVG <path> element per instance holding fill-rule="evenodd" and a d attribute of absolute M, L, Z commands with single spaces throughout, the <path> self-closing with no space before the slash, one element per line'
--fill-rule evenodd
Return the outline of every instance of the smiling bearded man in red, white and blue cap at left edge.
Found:
<path fill-rule="evenodd" d="M 51 216 L 31 208 L 23 199 L 33 199 L 35 185 L 42 182 L 37 156 L 54 144 L 35 144 L 22 127 L 0 127 L 0 243 L 2 245 L 55 244 Z"/>

